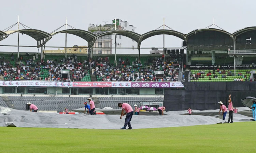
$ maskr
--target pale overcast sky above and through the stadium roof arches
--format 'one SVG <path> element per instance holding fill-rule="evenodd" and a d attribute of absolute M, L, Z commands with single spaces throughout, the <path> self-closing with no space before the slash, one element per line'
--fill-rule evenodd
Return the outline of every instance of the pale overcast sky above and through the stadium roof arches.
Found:
<path fill-rule="evenodd" d="M 233 33 L 236 30 L 256 26 L 255 0 L 4 0 L 1 1 L 0 30 L 17 22 L 32 29 L 52 32 L 65 24 L 88 30 L 88 24 L 111 23 L 113 18 L 126 20 L 137 27 L 139 34 L 155 30 L 163 24 L 172 29 L 189 33 L 213 23 Z M 20 26 L 20 29 L 23 27 Z M 17 29 L 17 27 L 12 30 Z M 64 29 L 61 29 L 64 30 Z M 142 41 L 141 47 L 162 47 L 163 36 L 158 35 Z M 165 37 L 166 47 L 181 47 L 182 40 Z M 0 41 L 0 45 L 17 45 L 17 34 Z M 20 35 L 20 45 L 36 46 L 37 42 Z M 87 45 L 82 38 L 68 35 L 67 46 Z M 46 46 L 65 46 L 65 34 L 55 35 Z M 126 47 L 122 44 L 122 47 Z M 128 47 L 128 46 L 127 46 Z M 0 51 L 17 52 L 17 47 L 1 47 Z M 21 52 L 37 52 L 37 48 L 20 47 Z M 150 49 L 142 50 L 149 53 Z"/>

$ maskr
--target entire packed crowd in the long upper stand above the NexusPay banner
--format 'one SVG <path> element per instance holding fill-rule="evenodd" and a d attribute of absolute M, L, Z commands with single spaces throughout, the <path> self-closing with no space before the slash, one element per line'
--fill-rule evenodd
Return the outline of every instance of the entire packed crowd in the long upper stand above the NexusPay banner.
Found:
<path fill-rule="evenodd" d="M 11 61 L 13 61 L 11 55 Z M 101 81 L 177 81 L 179 75 L 179 60 L 177 54 L 162 57 L 149 57 L 148 61 L 141 63 L 136 58 L 119 58 L 117 64 L 110 63 L 109 57 L 89 58 L 81 61 L 73 54 L 67 58 L 41 61 L 38 54 L 31 56 L 20 56 L 13 66 L 8 59 L 0 57 L 0 80 L 43 80 L 45 81 L 81 81 L 89 73 L 98 75 Z M 69 70 L 70 77 L 62 77 L 61 70 Z M 155 71 L 163 71 L 163 77 L 156 78 Z"/>

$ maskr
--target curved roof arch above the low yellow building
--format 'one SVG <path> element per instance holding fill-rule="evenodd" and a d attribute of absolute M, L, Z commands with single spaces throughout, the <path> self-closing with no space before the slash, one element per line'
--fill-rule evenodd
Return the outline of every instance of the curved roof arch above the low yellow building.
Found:
<path fill-rule="evenodd" d="M 86 40 L 87 42 L 93 41 L 96 39 L 96 35 L 94 33 L 91 33 L 89 31 L 85 31 L 85 30 L 81 30 L 81 29 L 62 30 L 62 31 L 58 31 L 56 33 L 52 33 L 52 36 L 59 34 L 59 33 L 68 33 L 68 34 L 76 35 L 76 36 Z"/>

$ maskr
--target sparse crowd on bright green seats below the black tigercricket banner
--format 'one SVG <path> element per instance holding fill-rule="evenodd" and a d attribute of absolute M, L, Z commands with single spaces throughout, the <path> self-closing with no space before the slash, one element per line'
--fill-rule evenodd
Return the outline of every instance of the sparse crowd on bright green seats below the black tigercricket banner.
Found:
<path fill-rule="evenodd" d="M 226 74 L 227 73 L 227 74 Z M 246 71 L 245 74 L 238 72 L 237 76 L 238 78 L 234 78 L 234 81 L 253 81 L 252 78 L 247 78 L 246 74 L 250 74 L 250 71 Z M 221 76 L 217 75 L 221 74 Z M 220 69 L 213 69 L 213 71 L 209 71 L 206 73 L 206 76 L 208 77 L 208 80 L 212 80 L 213 78 L 218 79 L 218 78 L 227 78 L 227 76 L 234 76 L 234 73 L 232 71 L 226 71 L 225 69 L 220 70 Z M 191 74 L 190 75 L 190 80 L 198 80 L 199 78 L 205 78 L 205 71 L 199 71 L 197 73 Z"/>

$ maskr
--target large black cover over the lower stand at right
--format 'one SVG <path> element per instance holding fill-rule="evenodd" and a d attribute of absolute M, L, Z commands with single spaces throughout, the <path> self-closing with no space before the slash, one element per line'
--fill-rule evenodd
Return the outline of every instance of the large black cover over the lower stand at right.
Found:
<path fill-rule="evenodd" d="M 185 90 L 165 90 L 166 111 L 218 109 L 218 102 L 228 106 L 231 94 L 233 107 L 243 107 L 241 99 L 256 97 L 256 82 L 183 82 Z"/>

